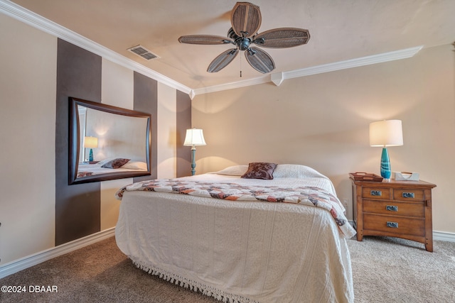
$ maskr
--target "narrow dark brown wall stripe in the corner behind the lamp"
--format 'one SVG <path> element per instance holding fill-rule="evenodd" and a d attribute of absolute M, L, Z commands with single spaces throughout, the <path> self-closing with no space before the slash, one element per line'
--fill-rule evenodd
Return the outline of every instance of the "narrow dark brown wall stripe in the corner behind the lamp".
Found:
<path fill-rule="evenodd" d="M 191 146 L 183 146 L 186 130 L 191 128 L 191 99 L 188 94 L 177 91 L 177 177 L 191 175 Z"/>

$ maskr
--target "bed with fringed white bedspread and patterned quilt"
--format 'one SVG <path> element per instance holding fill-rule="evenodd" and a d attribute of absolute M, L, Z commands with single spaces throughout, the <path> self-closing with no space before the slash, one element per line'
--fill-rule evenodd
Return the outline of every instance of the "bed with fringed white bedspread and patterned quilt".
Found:
<path fill-rule="evenodd" d="M 117 246 L 138 268 L 221 302 L 353 302 L 355 230 L 332 182 L 304 165 L 264 178 L 257 164 L 122 187 Z"/>

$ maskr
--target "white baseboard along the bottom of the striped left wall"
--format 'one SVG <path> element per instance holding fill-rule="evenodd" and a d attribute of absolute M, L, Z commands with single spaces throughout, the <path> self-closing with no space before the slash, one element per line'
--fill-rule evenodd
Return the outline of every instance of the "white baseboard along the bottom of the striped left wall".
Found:
<path fill-rule="evenodd" d="M 40 253 L 35 253 L 33 255 L 28 255 L 27 257 L 14 260 L 10 263 L 0 266 L 0 279 L 9 275 L 12 275 L 26 268 L 30 268 L 33 265 L 38 265 L 44 261 L 50 260 L 52 258 L 58 257 L 59 255 L 64 255 L 65 253 L 70 253 L 73 250 L 83 248 L 93 243 L 105 240 L 114 236 L 115 228 L 109 228 L 105 231 L 100 231 L 98 233 L 93 233 L 90 236 L 85 236 L 68 243 L 64 243 L 60 246 L 55 246 L 47 250 L 43 250 Z"/>

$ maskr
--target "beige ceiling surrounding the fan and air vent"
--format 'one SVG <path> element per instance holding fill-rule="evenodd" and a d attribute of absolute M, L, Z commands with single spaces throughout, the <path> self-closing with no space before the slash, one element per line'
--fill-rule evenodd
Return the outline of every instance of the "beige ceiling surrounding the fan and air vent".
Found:
<path fill-rule="evenodd" d="M 243 54 L 218 73 L 206 72 L 213 58 L 232 45 L 178 43 L 181 35 L 227 35 L 233 0 L 13 2 L 191 89 L 264 77 L 248 65 Z M 262 13 L 259 33 L 296 27 L 308 29 L 311 35 L 306 45 L 264 49 L 276 65 L 272 74 L 455 40 L 455 0 L 251 2 Z M 143 45 L 159 59 L 147 61 L 130 53 L 127 49 L 135 45 Z"/>

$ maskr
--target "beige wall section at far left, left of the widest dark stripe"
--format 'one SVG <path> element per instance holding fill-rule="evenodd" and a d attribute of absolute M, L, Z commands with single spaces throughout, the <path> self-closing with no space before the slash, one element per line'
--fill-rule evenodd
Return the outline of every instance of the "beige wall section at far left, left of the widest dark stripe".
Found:
<path fill-rule="evenodd" d="M 5 263 L 54 246 L 57 38 L 0 14 L 0 41 L 0 258 Z"/>

